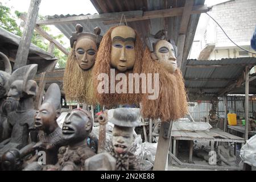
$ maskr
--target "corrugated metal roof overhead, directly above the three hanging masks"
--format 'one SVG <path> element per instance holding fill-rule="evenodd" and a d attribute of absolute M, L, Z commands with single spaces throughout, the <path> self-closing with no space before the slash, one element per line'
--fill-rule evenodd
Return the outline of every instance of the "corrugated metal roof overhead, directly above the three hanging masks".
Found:
<path fill-rule="evenodd" d="M 185 0 L 90 0 L 99 14 L 103 13 L 114 13 L 114 12 L 121 12 L 121 11 L 134 11 L 134 10 L 143 10 L 143 11 L 151 11 L 151 10 L 161 10 L 161 9 L 168 9 L 170 7 L 183 7 L 185 5 Z M 204 5 L 204 0 L 195 0 L 194 5 Z M 83 15 L 83 14 L 82 14 Z M 89 14 L 87 14 L 89 15 Z M 53 18 L 64 18 L 64 17 L 71 17 L 77 15 L 53 15 L 48 16 L 48 19 Z M 191 48 L 191 44 L 193 41 L 193 32 L 196 31 L 197 23 L 199 20 L 200 14 L 193 14 L 191 15 L 190 22 L 188 25 L 188 32 L 185 39 L 185 58 L 184 60 L 187 61 L 187 56 L 189 50 Z M 121 19 L 121 17 L 120 17 Z M 156 34 L 159 30 L 163 30 L 167 28 L 167 36 L 168 39 L 175 40 L 177 44 L 177 37 L 178 31 L 180 27 L 181 16 L 169 17 L 169 18 L 155 18 L 155 19 L 148 19 L 148 20 L 139 20 L 134 22 L 128 22 L 128 26 L 133 27 L 137 30 L 138 34 L 141 36 L 142 39 L 147 38 L 150 34 Z M 117 26 L 118 24 L 104 24 L 102 21 L 90 21 L 89 24 L 87 20 L 72 22 L 72 23 L 61 23 L 56 24 L 55 26 L 59 28 L 61 32 L 67 38 L 72 35 L 72 32 L 75 31 L 75 26 L 77 23 L 80 23 L 84 26 L 85 31 L 93 32 L 93 28 L 98 26 L 101 28 L 101 35 L 104 35 L 106 31 L 109 30 L 110 27 Z"/>

